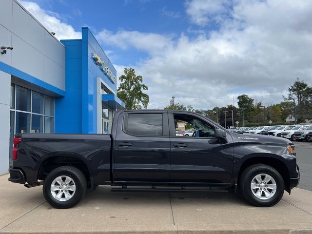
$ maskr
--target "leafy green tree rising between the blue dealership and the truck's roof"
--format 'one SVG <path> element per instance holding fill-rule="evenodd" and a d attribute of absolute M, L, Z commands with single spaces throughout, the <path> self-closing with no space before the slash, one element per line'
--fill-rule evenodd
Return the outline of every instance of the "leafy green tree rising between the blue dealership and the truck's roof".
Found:
<path fill-rule="evenodd" d="M 143 84 L 142 76 L 136 76 L 134 68 L 125 68 L 124 75 L 119 77 L 120 85 L 117 96 L 126 104 L 127 110 L 147 108 L 150 98 L 143 90 L 148 87 Z"/>

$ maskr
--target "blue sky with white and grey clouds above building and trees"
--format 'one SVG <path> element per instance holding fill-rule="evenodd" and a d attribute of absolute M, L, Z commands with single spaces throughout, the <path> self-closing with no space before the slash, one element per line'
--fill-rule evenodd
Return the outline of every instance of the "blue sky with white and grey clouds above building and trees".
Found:
<path fill-rule="evenodd" d="M 149 109 L 283 100 L 312 85 L 311 0 L 20 0 L 58 39 L 88 26 L 117 69 L 143 77 Z M 118 83 L 117 83 L 118 84 Z"/>

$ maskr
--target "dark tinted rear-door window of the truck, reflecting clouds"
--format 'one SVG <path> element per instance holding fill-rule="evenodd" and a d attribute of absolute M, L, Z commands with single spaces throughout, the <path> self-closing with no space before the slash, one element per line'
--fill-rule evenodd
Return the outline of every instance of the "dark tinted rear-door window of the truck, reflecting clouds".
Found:
<path fill-rule="evenodd" d="M 126 132 L 138 136 L 162 136 L 162 114 L 129 114 Z"/>

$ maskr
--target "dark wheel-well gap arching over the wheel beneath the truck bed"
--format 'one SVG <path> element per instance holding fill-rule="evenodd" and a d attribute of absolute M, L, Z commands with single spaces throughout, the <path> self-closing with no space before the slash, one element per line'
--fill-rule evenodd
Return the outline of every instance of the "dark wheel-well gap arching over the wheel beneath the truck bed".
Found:
<path fill-rule="evenodd" d="M 47 158 L 40 165 L 38 179 L 44 180 L 51 171 L 65 165 L 78 168 L 86 177 L 87 181 L 90 182 L 90 173 L 87 165 L 81 159 L 73 156 L 53 156 Z"/>

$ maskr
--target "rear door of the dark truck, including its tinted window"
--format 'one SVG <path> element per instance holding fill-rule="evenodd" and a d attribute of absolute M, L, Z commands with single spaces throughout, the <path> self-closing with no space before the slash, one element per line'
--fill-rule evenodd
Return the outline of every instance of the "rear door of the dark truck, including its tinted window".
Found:
<path fill-rule="evenodd" d="M 167 111 L 127 111 L 118 117 L 114 181 L 169 181 Z"/>

